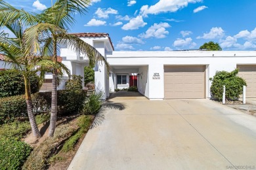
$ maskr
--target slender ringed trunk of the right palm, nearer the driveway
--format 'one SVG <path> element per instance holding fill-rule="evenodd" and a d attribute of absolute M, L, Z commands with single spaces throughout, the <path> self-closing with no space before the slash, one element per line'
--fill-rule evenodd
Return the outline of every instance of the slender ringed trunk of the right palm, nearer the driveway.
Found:
<path fill-rule="evenodd" d="M 53 61 L 57 62 L 57 42 L 53 39 L 54 43 L 54 54 L 53 54 Z M 51 103 L 51 120 L 50 120 L 50 127 L 49 127 L 49 137 L 53 137 L 55 128 L 56 128 L 56 121 L 57 121 L 57 75 L 58 72 L 56 69 L 53 71 L 53 90 L 52 90 L 52 103 Z"/>

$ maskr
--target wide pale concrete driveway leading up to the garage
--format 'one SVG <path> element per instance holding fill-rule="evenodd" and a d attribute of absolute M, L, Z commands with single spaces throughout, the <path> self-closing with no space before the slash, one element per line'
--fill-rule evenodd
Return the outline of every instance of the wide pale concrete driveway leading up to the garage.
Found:
<path fill-rule="evenodd" d="M 208 99 L 108 104 L 69 169 L 256 169 L 253 116 Z"/>

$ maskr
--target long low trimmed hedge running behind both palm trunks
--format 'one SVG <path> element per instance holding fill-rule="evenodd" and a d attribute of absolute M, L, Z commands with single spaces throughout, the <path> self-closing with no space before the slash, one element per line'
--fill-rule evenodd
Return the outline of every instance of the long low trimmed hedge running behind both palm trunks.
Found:
<path fill-rule="evenodd" d="M 85 101 L 85 90 L 58 90 L 58 114 L 70 114 L 81 109 Z M 51 111 L 51 92 L 39 92 L 32 95 L 35 114 Z M 0 99 L 0 124 L 13 122 L 15 118 L 27 118 L 27 106 L 24 95 Z"/>

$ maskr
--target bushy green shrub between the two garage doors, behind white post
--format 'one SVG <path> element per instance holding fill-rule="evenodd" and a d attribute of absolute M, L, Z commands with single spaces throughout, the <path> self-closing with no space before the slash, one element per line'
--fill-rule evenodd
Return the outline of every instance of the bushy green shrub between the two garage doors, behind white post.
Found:
<path fill-rule="evenodd" d="M 246 86 L 246 82 L 243 78 L 238 76 L 238 69 L 232 72 L 217 71 L 211 84 L 211 93 L 213 97 L 217 99 L 223 98 L 223 86 L 226 86 L 226 98 L 238 99 L 239 95 L 243 93 L 243 86 Z"/>

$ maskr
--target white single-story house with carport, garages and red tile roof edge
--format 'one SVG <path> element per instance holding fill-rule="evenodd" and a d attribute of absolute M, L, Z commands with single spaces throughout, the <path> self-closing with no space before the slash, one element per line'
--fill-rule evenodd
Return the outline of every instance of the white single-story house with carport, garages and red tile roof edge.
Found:
<path fill-rule="evenodd" d="M 110 64 L 108 73 L 104 63 L 95 65 L 95 90 L 104 99 L 116 88 L 137 86 L 150 100 L 210 98 L 211 81 L 216 71 L 240 69 L 247 82 L 246 97 L 256 97 L 256 51 L 114 51 L 107 33 L 74 33 L 91 44 Z M 62 63 L 72 75 L 84 76 L 83 68 L 89 59 L 62 46 Z M 51 86 L 51 75 L 47 75 Z M 65 88 L 66 75 L 58 89 Z"/>

